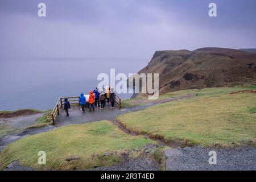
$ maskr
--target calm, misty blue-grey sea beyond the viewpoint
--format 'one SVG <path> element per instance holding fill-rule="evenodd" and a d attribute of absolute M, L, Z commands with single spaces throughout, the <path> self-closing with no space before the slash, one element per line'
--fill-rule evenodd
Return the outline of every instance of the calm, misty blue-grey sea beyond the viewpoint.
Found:
<path fill-rule="evenodd" d="M 79 96 L 96 88 L 97 76 L 137 73 L 148 59 L 45 58 L 0 60 L 0 110 L 53 109 L 59 97 Z M 118 94 L 123 100 L 131 94 Z"/>

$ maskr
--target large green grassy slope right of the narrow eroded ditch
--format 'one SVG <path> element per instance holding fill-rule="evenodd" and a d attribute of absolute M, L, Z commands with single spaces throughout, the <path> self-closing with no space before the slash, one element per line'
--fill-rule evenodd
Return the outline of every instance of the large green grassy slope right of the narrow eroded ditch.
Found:
<path fill-rule="evenodd" d="M 117 119 L 128 130 L 166 142 L 182 141 L 202 146 L 217 143 L 223 147 L 255 144 L 255 93 L 229 94 L 246 89 L 254 88 L 191 90 L 200 95 L 119 115 Z"/>

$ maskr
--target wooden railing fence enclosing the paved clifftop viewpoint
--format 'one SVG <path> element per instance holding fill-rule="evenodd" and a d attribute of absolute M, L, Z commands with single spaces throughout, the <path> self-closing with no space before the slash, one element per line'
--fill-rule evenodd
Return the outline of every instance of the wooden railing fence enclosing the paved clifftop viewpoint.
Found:
<path fill-rule="evenodd" d="M 79 105 L 79 96 L 75 97 L 61 97 L 57 101 L 57 104 L 55 105 L 54 109 L 52 110 L 52 125 L 55 125 L 55 119 L 57 118 L 58 115 L 60 115 L 60 109 L 63 108 L 64 106 L 64 100 L 65 98 L 68 99 L 70 105 Z M 88 102 L 88 101 L 86 101 Z M 118 108 L 121 109 L 121 98 L 115 94 L 115 104 L 118 105 Z"/>

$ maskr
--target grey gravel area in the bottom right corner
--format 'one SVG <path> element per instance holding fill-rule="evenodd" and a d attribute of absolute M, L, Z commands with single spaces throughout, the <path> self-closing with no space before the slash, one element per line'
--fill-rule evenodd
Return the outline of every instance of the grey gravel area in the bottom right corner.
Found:
<path fill-rule="evenodd" d="M 256 148 L 209 149 L 199 146 L 180 149 L 182 155 L 167 158 L 167 168 L 171 170 L 192 171 L 248 171 L 256 170 Z M 210 151 L 216 151 L 217 164 L 210 165 Z"/>

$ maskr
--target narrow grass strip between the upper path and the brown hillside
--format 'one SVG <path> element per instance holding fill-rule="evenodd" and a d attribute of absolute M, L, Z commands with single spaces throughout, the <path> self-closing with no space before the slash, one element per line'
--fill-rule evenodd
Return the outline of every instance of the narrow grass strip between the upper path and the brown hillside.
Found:
<path fill-rule="evenodd" d="M 176 92 L 170 92 L 162 94 L 158 97 L 157 100 L 148 100 L 146 96 L 140 96 L 130 100 L 122 101 L 122 108 L 125 107 L 134 107 L 140 105 L 150 104 L 150 102 L 156 102 L 161 100 L 166 100 L 168 98 L 176 98 L 182 96 L 190 95 L 190 98 L 200 97 L 200 96 L 220 96 L 221 94 L 226 94 L 230 92 L 238 92 L 241 90 L 255 90 L 255 85 L 245 85 L 245 86 L 236 86 L 236 87 L 223 87 L 223 88 L 205 88 L 205 89 L 189 89 L 189 90 L 180 90 Z"/>

